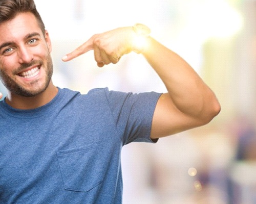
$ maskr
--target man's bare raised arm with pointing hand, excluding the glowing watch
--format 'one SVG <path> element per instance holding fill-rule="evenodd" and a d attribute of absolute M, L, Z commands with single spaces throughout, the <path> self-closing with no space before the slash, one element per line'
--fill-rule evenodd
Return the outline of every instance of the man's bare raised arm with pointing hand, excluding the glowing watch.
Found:
<path fill-rule="evenodd" d="M 133 27 L 96 34 L 62 60 L 69 61 L 93 49 L 99 67 L 117 63 L 124 54 L 138 52 L 134 43 L 137 36 Z M 214 92 L 179 55 L 152 37 L 144 37 L 144 40 L 140 51 L 168 91 L 158 100 L 151 138 L 173 135 L 211 121 L 220 112 Z"/>

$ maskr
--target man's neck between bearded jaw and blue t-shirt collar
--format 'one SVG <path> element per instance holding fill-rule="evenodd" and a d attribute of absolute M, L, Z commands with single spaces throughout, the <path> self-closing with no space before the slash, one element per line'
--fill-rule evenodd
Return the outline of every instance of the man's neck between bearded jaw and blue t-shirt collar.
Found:
<path fill-rule="evenodd" d="M 6 103 L 15 109 L 35 109 L 48 104 L 57 95 L 57 93 L 58 89 L 51 81 L 47 89 L 36 96 L 25 97 L 9 92 L 6 97 Z"/>

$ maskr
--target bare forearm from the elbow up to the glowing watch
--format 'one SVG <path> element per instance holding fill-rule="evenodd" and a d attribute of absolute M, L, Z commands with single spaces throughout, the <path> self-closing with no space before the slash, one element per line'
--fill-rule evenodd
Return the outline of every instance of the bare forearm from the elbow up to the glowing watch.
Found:
<path fill-rule="evenodd" d="M 179 55 L 149 37 L 143 56 L 166 86 L 175 107 L 195 118 L 209 120 L 218 114 L 220 105 L 215 94 L 196 71 Z"/>

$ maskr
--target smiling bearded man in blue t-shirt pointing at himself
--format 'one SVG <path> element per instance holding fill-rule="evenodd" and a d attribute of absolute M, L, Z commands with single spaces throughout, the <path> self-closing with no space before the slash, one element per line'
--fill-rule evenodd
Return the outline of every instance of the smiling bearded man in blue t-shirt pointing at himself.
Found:
<path fill-rule="evenodd" d="M 147 31 L 138 24 L 94 35 L 62 60 L 94 50 L 102 67 L 140 52 L 168 93 L 82 95 L 53 85 L 51 41 L 33 0 L 0 1 L 0 77 L 8 89 L 0 103 L 0 203 L 121 203 L 123 145 L 156 142 L 219 113 L 198 74 Z"/>

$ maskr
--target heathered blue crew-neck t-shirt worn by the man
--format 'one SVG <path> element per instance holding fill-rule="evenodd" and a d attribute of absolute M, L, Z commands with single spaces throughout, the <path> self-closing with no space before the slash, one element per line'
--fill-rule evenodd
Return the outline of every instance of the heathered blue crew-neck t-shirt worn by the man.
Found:
<path fill-rule="evenodd" d="M 59 88 L 33 110 L 1 101 L 0 203 L 120 204 L 121 148 L 152 142 L 159 96 Z"/>

